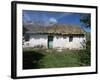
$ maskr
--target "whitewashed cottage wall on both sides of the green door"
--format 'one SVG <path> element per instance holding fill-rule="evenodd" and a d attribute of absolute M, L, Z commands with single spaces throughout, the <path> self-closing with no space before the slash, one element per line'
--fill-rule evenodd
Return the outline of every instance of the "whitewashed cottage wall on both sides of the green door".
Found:
<path fill-rule="evenodd" d="M 74 37 L 72 42 L 69 42 L 68 36 L 54 36 L 53 48 L 68 48 L 68 49 L 81 49 L 83 48 L 83 41 L 85 37 Z M 25 42 L 26 47 L 43 46 L 48 48 L 48 35 L 31 35 L 28 42 Z"/>

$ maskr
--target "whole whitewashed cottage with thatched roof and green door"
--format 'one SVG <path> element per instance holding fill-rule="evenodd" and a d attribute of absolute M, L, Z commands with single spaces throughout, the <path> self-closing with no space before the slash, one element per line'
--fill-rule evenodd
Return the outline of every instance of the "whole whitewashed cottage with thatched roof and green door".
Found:
<path fill-rule="evenodd" d="M 79 25 L 56 24 L 49 27 L 24 25 L 23 47 L 83 49 L 86 40 Z"/>

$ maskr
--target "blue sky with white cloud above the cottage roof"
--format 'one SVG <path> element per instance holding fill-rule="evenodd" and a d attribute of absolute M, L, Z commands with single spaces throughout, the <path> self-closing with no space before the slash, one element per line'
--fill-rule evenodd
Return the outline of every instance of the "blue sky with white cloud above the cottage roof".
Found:
<path fill-rule="evenodd" d="M 33 11 L 33 10 L 23 10 L 23 22 L 42 24 L 44 26 L 53 24 L 78 24 L 80 22 L 81 13 L 71 13 L 71 12 L 51 12 L 51 11 Z M 81 26 L 86 32 L 90 32 L 90 28 L 85 28 Z"/>

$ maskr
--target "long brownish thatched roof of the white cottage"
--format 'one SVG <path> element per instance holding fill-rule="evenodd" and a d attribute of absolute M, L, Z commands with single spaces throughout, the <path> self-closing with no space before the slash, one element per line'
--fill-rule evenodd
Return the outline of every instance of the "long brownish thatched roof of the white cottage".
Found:
<path fill-rule="evenodd" d="M 72 24 L 56 24 L 48 27 L 24 25 L 24 27 L 28 30 L 27 33 L 84 34 L 80 25 Z"/>

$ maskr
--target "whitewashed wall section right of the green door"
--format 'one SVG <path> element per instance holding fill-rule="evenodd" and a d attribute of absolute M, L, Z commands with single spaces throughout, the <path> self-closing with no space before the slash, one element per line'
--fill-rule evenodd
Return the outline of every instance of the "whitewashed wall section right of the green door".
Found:
<path fill-rule="evenodd" d="M 69 49 L 81 49 L 83 48 L 83 41 L 85 37 L 73 37 L 72 42 L 69 42 L 69 37 L 55 36 L 53 41 L 54 48 L 69 48 Z"/>

